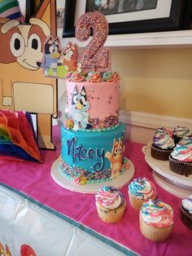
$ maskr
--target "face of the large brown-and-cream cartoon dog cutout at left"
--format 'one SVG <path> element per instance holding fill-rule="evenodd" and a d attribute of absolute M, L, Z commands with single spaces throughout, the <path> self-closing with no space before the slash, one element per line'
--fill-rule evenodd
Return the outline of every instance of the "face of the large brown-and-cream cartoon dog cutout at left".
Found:
<path fill-rule="evenodd" d="M 50 36 L 50 28 L 37 18 L 31 18 L 29 22 L 20 24 L 18 20 L 7 20 L 0 24 L 0 63 L 17 62 L 30 70 L 39 68 L 37 61 L 43 56 L 42 42 Z"/>

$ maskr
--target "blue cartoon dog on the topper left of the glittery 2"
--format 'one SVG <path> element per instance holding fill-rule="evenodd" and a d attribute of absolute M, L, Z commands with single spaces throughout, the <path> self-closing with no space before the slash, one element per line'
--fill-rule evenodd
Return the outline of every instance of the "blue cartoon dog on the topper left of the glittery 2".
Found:
<path fill-rule="evenodd" d="M 59 42 L 58 38 L 53 39 L 51 36 L 46 39 L 43 62 L 37 62 L 37 65 L 44 68 L 45 76 L 49 75 L 50 69 L 53 70 L 53 76 L 57 76 L 57 66 L 59 65 Z"/>

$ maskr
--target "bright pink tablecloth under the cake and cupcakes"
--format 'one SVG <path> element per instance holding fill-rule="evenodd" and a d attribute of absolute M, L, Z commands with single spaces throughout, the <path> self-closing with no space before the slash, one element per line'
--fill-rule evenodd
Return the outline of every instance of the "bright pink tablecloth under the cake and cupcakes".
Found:
<path fill-rule="evenodd" d="M 129 205 L 128 188 L 121 189 L 128 202 L 124 218 L 120 223 L 103 223 L 97 215 L 94 195 L 69 192 L 57 185 L 50 176 L 50 168 L 59 157 L 59 127 L 54 129 L 56 151 L 42 151 L 44 164 L 3 161 L 0 159 L 0 183 L 24 192 L 34 200 L 52 210 L 74 219 L 112 241 L 142 255 L 192 255 L 192 231 L 181 223 L 181 199 L 165 192 L 156 185 L 158 197 L 172 206 L 175 226 L 168 240 L 162 243 L 148 241 L 139 230 L 138 212 Z M 135 177 L 152 179 L 151 168 L 146 164 L 142 144 L 127 142 L 126 156 L 133 162 Z"/>

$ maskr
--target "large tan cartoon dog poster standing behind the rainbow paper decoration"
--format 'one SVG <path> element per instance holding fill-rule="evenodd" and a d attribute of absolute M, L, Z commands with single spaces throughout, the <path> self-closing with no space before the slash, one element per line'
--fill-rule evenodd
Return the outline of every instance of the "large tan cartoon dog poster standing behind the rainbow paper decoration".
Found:
<path fill-rule="evenodd" d="M 55 149 L 52 117 L 57 117 L 57 81 L 38 62 L 44 42 L 56 36 L 55 0 L 44 0 L 28 24 L 0 18 L 0 109 L 37 114 L 40 148 Z"/>

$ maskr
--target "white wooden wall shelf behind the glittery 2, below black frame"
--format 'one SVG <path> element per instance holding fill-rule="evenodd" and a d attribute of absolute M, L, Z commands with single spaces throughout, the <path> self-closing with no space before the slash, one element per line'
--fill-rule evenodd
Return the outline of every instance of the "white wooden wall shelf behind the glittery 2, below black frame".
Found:
<path fill-rule="evenodd" d="M 78 42 L 76 38 L 62 38 L 62 46 L 65 46 L 68 42 L 76 42 L 79 47 L 85 47 L 89 40 Z M 109 35 L 105 46 L 114 49 L 192 47 L 192 29 Z"/>

